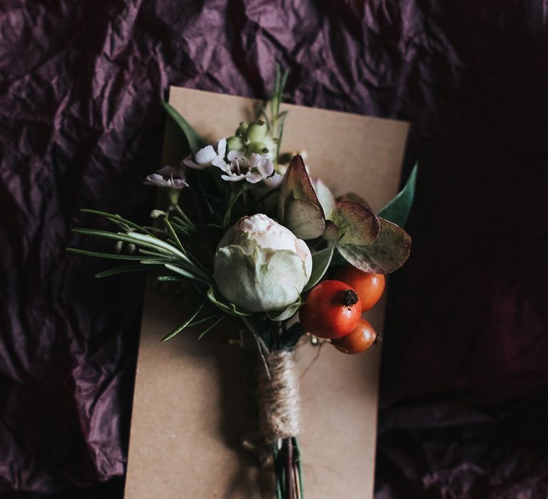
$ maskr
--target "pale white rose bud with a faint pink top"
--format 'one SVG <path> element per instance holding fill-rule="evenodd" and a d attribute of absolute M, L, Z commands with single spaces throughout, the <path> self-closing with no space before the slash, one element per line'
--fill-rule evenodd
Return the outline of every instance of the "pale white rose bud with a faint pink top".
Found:
<path fill-rule="evenodd" d="M 213 267 L 229 302 L 248 312 L 271 312 L 297 301 L 312 272 L 312 254 L 293 232 L 259 213 L 228 229 Z"/>

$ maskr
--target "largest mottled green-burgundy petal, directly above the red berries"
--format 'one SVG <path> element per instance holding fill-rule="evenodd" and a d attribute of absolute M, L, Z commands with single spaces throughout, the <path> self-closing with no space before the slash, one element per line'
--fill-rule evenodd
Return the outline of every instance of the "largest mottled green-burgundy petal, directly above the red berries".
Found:
<path fill-rule="evenodd" d="M 370 245 L 338 245 L 342 257 L 363 272 L 390 274 L 407 260 L 411 237 L 401 227 L 380 218 L 379 236 Z"/>

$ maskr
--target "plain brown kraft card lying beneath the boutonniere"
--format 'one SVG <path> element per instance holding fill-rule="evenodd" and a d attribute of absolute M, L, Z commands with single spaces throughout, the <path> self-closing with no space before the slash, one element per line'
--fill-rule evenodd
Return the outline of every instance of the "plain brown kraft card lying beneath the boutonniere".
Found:
<path fill-rule="evenodd" d="M 171 88 L 170 103 L 205 138 L 233 133 L 255 101 Z M 408 124 L 284 106 L 283 151 L 306 150 L 312 175 L 335 195 L 356 192 L 379 210 L 397 192 Z M 171 140 L 166 131 L 166 143 Z M 167 151 L 167 148 L 166 148 Z M 164 164 L 181 158 L 168 158 Z M 173 163 L 171 163 L 173 164 Z M 183 191 L 184 192 L 184 191 Z M 240 438 L 254 426 L 253 355 L 192 331 L 161 344 L 187 316 L 180 298 L 148 287 L 133 401 L 128 499 L 273 498 Z M 367 314 L 382 331 L 384 302 Z M 305 498 L 371 498 L 380 349 L 347 356 L 308 341 L 298 347 Z"/>

